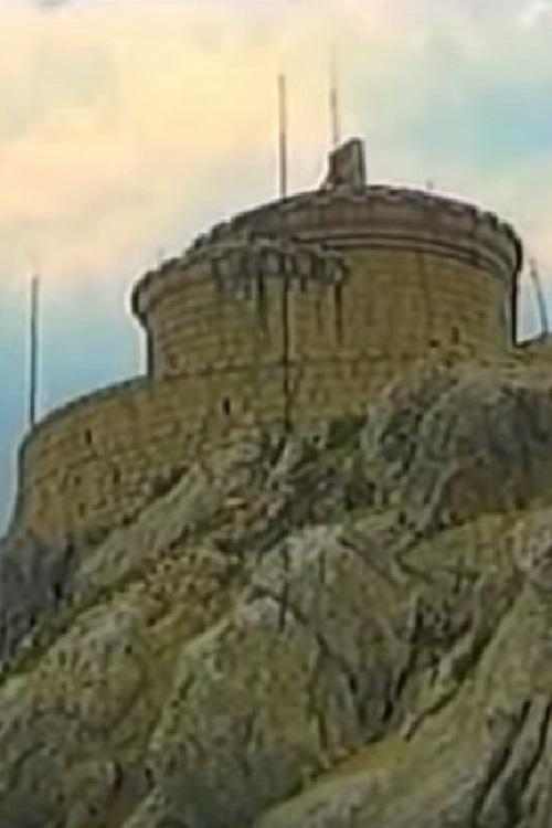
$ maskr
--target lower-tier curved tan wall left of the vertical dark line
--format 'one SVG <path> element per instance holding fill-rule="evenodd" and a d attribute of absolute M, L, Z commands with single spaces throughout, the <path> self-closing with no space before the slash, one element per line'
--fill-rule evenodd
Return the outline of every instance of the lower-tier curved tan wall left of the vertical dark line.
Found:
<path fill-rule="evenodd" d="M 125 522 L 174 473 L 240 426 L 277 425 L 282 378 L 243 374 L 138 380 L 54 412 L 23 443 L 12 531 L 44 538 Z"/>

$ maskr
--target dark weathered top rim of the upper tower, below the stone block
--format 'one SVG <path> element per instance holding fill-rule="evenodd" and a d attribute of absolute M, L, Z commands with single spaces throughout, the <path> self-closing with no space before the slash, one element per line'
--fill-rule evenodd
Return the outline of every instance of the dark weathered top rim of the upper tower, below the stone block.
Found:
<path fill-rule="evenodd" d="M 193 250 L 232 233 L 321 240 L 333 248 L 388 245 L 477 259 L 510 280 L 521 266 L 521 243 L 507 222 L 471 204 L 394 187 L 307 192 L 242 213 L 200 237 Z M 139 289 L 139 286 L 138 286 Z"/>

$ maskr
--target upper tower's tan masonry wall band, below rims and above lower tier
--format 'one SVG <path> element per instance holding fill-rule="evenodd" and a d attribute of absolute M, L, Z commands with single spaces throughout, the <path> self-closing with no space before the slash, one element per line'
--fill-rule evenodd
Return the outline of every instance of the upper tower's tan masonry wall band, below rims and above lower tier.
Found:
<path fill-rule="evenodd" d="M 262 367 L 283 358 L 402 359 L 444 348 L 488 355 L 510 344 L 510 289 L 478 263 L 439 252 L 342 251 L 343 280 L 256 270 L 219 283 L 181 269 L 147 317 L 156 376 Z"/>

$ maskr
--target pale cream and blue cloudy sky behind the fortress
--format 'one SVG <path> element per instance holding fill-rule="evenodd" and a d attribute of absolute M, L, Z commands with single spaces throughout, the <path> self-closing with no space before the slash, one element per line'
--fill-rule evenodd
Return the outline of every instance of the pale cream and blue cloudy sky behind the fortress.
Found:
<path fill-rule="evenodd" d="M 139 371 L 131 284 L 276 195 L 280 71 L 293 190 L 323 173 L 335 50 L 370 179 L 512 221 L 552 307 L 551 42 L 548 0 L 0 0 L 0 529 L 33 268 L 41 413 Z M 529 279 L 521 326 L 538 330 Z"/>

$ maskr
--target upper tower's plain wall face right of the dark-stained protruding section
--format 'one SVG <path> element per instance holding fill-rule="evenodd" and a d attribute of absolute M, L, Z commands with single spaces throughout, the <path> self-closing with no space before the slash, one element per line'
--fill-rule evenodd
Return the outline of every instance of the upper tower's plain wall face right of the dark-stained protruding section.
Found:
<path fill-rule="evenodd" d="M 486 357 L 509 346 L 507 285 L 436 254 L 369 251 L 349 257 L 339 350 L 402 359 L 432 349 Z"/>

